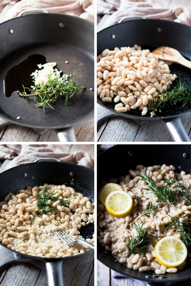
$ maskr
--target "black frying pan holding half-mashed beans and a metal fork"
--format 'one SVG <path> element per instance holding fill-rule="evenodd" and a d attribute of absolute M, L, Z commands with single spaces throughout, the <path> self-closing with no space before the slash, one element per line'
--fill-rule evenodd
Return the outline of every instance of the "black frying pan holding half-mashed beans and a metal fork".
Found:
<path fill-rule="evenodd" d="M 71 163 L 63 162 L 35 162 L 24 164 L 6 170 L 0 174 L 0 201 L 2 201 L 8 192 L 15 193 L 20 188 L 26 186 L 40 186 L 48 184 L 66 184 L 75 190 L 81 192 L 84 196 L 94 201 L 94 171 Z M 93 224 L 88 227 L 89 232 L 94 231 Z M 85 230 L 85 228 L 84 228 Z M 86 231 L 80 233 L 86 238 Z M 1 243 L 2 246 L 6 247 Z M 6 247 L 7 248 L 7 247 Z M 9 249 L 9 248 L 7 248 Z M 10 249 L 9 249 L 10 250 Z M 13 251 L 13 250 L 10 250 Z M 93 250 L 90 250 L 94 255 Z M 18 254 L 18 252 L 13 251 Z M 29 259 L 40 259 L 45 262 L 49 286 L 62 286 L 62 263 L 68 259 L 75 259 L 75 256 L 64 258 L 43 258 L 19 253 Z M 86 255 L 79 254 L 80 255 Z M 84 267 L 86 267 L 84 265 Z"/>

